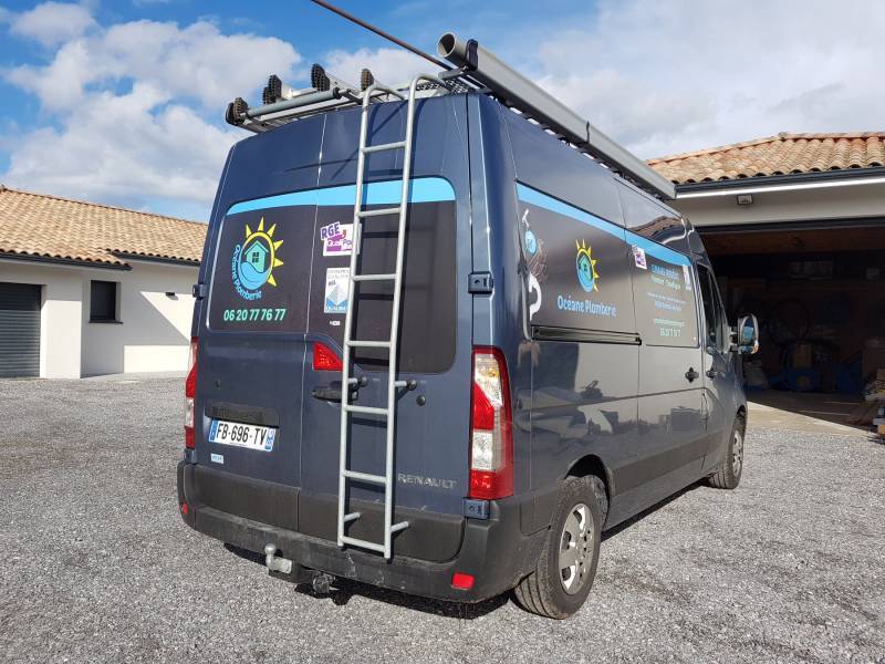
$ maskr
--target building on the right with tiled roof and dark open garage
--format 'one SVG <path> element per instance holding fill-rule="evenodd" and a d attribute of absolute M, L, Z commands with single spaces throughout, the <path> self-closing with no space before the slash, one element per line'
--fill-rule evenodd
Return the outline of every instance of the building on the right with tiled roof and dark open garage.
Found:
<path fill-rule="evenodd" d="M 787 134 L 652 159 L 676 184 L 731 315 L 790 388 L 885 367 L 885 132 Z"/>

